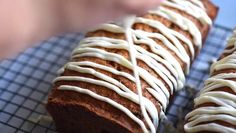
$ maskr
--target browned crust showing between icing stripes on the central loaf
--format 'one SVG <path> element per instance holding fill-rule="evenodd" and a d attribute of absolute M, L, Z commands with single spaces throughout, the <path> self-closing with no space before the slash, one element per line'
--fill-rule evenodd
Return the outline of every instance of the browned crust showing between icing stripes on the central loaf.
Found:
<path fill-rule="evenodd" d="M 216 14 L 217 14 L 217 8 L 208 0 L 203 0 L 203 3 L 207 9 L 207 13 L 208 15 L 214 19 Z M 169 7 L 168 7 L 169 8 Z M 170 8 L 171 10 L 175 10 Z M 182 15 L 186 16 L 187 18 L 190 18 L 191 20 L 193 20 L 194 23 L 197 24 L 198 28 L 200 29 L 202 35 L 203 35 L 203 40 L 205 40 L 206 35 L 208 33 L 209 30 L 209 26 L 208 25 L 202 25 L 199 20 L 193 18 L 192 16 L 182 12 L 182 11 L 178 11 L 180 12 Z M 162 18 L 162 17 L 157 17 L 155 15 L 151 15 L 151 14 L 146 14 L 143 17 L 145 18 L 151 18 L 154 20 L 158 20 L 161 23 L 163 23 L 164 25 L 166 25 L 167 27 L 174 29 L 180 33 L 182 33 L 183 35 L 185 35 L 186 37 L 188 37 L 189 39 L 192 40 L 192 36 L 186 32 L 183 31 L 182 29 L 180 29 L 177 25 L 175 25 L 174 23 L 170 22 L 169 20 Z M 142 29 L 145 31 L 149 31 L 149 32 L 159 32 L 158 30 L 147 26 L 145 24 L 135 24 L 134 27 L 135 29 Z M 117 34 L 117 33 L 110 33 L 107 31 L 95 31 L 95 32 L 90 32 L 87 33 L 88 37 L 91 36 L 106 36 L 106 37 L 111 37 L 111 38 L 120 38 L 120 39 L 125 39 L 124 34 Z M 163 43 L 161 41 L 158 41 L 158 44 L 163 45 Z M 183 42 L 182 42 L 183 43 Z M 186 44 L 184 44 L 185 49 L 188 51 L 188 54 L 190 54 L 188 47 L 186 46 Z M 146 47 L 145 45 L 141 45 L 143 48 L 145 48 L 146 50 L 150 51 L 150 49 L 148 47 Z M 166 48 L 166 47 L 165 47 Z M 106 51 L 109 52 L 113 52 L 113 53 L 117 53 L 120 54 L 122 56 L 124 56 L 125 58 L 129 59 L 129 53 L 125 50 L 117 50 L 117 49 L 105 49 L 105 48 L 101 48 L 104 49 Z M 186 65 L 180 60 L 178 59 L 178 57 L 174 54 L 174 52 L 172 52 L 170 49 L 166 48 L 168 51 L 170 51 L 174 57 L 176 57 L 176 59 L 180 62 L 182 68 L 185 68 Z M 198 52 L 199 50 L 195 48 L 195 51 Z M 74 61 L 92 61 L 92 62 L 96 62 L 99 64 L 103 64 L 109 67 L 113 67 L 117 70 L 120 71 L 124 71 L 124 72 L 128 72 L 130 74 L 132 74 L 132 72 L 111 61 L 106 61 L 106 60 L 102 60 L 99 58 L 92 58 L 92 57 L 83 57 L 83 58 L 76 58 L 74 59 Z M 154 75 L 155 77 L 159 78 L 160 80 L 162 80 L 163 83 L 165 83 L 165 81 L 163 79 L 160 78 L 160 76 L 155 73 L 151 68 L 149 68 L 144 62 L 138 60 L 138 65 L 141 66 L 142 68 L 146 69 L 148 72 L 150 72 L 152 75 Z M 112 73 L 100 70 L 100 69 L 96 69 L 93 68 L 99 72 L 102 72 L 118 81 L 120 81 L 121 83 L 123 83 L 125 86 L 127 86 L 128 88 L 130 88 L 132 91 L 136 92 L 136 86 L 134 83 L 130 82 L 128 79 L 121 77 L 121 76 L 117 76 L 114 75 Z M 75 71 L 70 71 L 70 70 L 66 70 L 63 75 L 76 75 L 76 76 L 82 76 L 82 77 L 90 77 L 90 78 L 94 78 L 97 79 L 96 77 L 89 75 L 89 74 L 82 74 L 82 73 L 78 73 Z M 158 108 L 158 110 L 160 110 L 160 104 L 159 101 L 157 101 L 156 99 L 154 99 L 154 97 L 152 95 L 150 95 L 145 88 L 149 87 L 149 85 L 142 80 L 142 90 L 143 90 L 143 95 L 145 97 L 147 97 L 148 99 L 150 99 Z M 50 105 L 50 103 L 56 103 L 58 105 L 77 105 L 77 106 L 83 106 L 85 108 L 87 108 L 88 110 L 90 110 L 91 112 L 96 113 L 98 116 L 100 117 L 104 117 L 109 119 L 110 121 L 113 121 L 123 127 L 125 127 L 126 129 L 128 129 L 131 132 L 142 132 L 141 128 L 133 121 L 131 120 L 128 116 L 126 116 L 123 112 L 121 112 L 120 110 L 114 108 L 113 106 L 105 103 L 105 102 L 101 102 L 98 100 L 95 100 L 94 98 L 84 95 L 84 94 L 80 94 L 77 92 L 72 92 L 72 91 L 62 91 L 62 90 L 58 90 L 57 87 L 59 85 L 76 85 L 82 88 L 87 88 L 93 92 L 96 92 L 99 95 L 108 97 L 113 99 L 114 101 L 122 104 L 123 106 L 127 107 L 129 110 L 132 110 L 132 112 L 139 118 L 143 119 L 143 116 L 141 115 L 140 112 L 140 107 L 139 105 L 127 100 L 126 98 L 123 98 L 121 96 L 119 96 L 118 94 L 116 94 L 115 92 L 106 89 L 104 87 L 98 86 L 98 85 L 93 85 L 93 84 L 89 84 L 89 83 L 84 83 L 84 82 L 73 82 L 73 81 L 61 81 L 61 82 L 57 82 L 53 88 L 52 93 L 49 96 L 49 100 L 48 103 Z M 165 83 L 166 87 L 168 88 L 167 84 Z M 170 91 L 170 90 L 169 90 Z"/>

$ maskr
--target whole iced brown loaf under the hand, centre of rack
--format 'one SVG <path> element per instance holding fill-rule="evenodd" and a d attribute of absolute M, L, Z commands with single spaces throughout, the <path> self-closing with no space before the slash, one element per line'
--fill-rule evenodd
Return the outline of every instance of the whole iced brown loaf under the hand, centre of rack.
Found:
<path fill-rule="evenodd" d="M 216 14 L 208 0 L 166 0 L 130 28 L 103 24 L 88 32 L 48 98 L 57 130 L 155 133 Z"/>

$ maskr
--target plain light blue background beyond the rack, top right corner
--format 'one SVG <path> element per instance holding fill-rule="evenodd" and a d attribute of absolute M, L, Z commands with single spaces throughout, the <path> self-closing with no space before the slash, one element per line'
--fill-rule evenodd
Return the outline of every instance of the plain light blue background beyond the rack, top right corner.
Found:
<path fill-rule="evenodd" d="M 220 7 L 216 24 L 234 28 L 236 27 L 236 0 L 212 0 Z"/>

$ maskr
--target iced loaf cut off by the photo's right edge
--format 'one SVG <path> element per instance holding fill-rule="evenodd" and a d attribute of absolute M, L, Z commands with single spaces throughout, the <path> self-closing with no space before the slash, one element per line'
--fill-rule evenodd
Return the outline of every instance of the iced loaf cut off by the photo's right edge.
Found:
<path fill-rule="evenodd" d="M 236 31 L 186 116 L 187 133 L 236 133 Z"/>

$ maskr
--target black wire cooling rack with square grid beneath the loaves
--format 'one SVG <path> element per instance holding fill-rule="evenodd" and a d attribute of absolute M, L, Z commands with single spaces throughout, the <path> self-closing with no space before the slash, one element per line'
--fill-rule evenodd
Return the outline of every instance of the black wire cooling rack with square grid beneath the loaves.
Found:
<path fill-rule="evenodd" d="M 225 47 L 232 30 L 214 25 L 206 44 L 194 62 L 187 85 L 199 90 L 208 77 L 209 62 L 216 59 Z M 82 34 L 69 34 L 49 39 L 29 48 L 14 59 L 0 62 L 0 132 L 55 133 L 55 126 L 47 117 L 45 101 L 57 70 L 68 60 Z M 179 122 L 179 109 L 188 112 L 193 95 L 180 91 L 167 111 L 174 124 Z"/>

